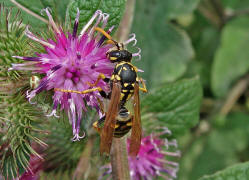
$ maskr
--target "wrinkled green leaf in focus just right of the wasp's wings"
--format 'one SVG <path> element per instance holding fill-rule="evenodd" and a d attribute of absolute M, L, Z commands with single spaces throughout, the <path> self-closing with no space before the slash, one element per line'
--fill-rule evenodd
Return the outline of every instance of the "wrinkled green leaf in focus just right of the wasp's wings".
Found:
<path fill-rule="evenodd" d="M 152 113 L 143 125 L 151 131 L 155 126 L 167 126 L 174 135 L 181 134 L 197 124 L 201 99 L 199 78 L 165 84 L 142 101 L 141 109 Z"/>

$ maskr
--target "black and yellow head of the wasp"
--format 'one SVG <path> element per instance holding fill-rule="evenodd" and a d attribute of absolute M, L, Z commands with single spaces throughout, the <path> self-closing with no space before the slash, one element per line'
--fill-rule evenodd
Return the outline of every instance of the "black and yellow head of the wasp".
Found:
<path fill-rule="evenodd" d="M 113 50 L 107 53 L 107 58 L 111 62 L 126 61 L 130 62 L 132 58 L 132 53 L 127 50 Z"/>

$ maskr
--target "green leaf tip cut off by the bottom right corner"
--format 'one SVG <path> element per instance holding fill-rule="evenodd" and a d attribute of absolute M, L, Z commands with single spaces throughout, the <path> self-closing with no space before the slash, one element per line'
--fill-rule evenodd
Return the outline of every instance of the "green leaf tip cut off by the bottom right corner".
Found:
<path fill-rule="evenodd" d="M 217 172 L 210 176 L 204 176 L 199 180 L 248 180 L 249 162 L 236 164 L 225 170 Z"/>

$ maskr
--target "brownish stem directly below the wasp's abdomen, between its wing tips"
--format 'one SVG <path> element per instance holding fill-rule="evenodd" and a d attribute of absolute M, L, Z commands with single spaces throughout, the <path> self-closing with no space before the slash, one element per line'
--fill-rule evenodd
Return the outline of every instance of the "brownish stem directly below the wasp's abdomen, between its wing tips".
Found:
<path fill-rule="evenodd" d="M 113 138 L 111 165 L 113 180 L 130 180 L 126 137 Z"/>

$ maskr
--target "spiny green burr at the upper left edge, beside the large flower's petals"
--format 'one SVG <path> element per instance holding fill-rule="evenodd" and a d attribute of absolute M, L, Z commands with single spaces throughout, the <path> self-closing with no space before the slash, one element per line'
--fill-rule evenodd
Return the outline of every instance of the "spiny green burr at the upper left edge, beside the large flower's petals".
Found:
<path fill-rule="evenodd" d="M 12 58 L 13 53 L 25 55 L 29 53 L 27 39 L 24 37 L 24 26 L 19 17 L 20 11 L 7 9 L 2 4 L 0 7 L 0 77 L 8 80 L 17 80 L 21 75 L 16 71 L 8 71 L 11 63 L 20 60 Z"/>

